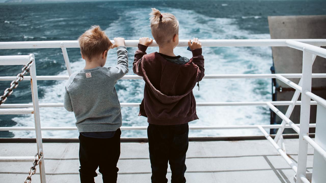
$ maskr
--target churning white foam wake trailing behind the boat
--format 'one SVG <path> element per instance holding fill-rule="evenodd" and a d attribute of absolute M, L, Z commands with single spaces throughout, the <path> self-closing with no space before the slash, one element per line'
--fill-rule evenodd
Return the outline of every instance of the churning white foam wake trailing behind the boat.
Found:
<path fill-rule="evenodd" d="M 158 7 L 158 9 L 160 9 Z M 251 34 L 240 30 L 234 19 L 212 18 L 191 10 L 162 8 L 162 12 L 173 13 L 180 22 L 180 39 L 198 37 L 200 39 L 269 39 L 269 34 Z M 131 9 L 123 13 L 121 18 L 111 23 L 106 33 L 113 37 L 138 39 L 140 36 L 151 37 L 148 20 L 149 10 L 146 8 Z M 187 16 L 185 16 L 187 15 Z M 130 33 L 133 33 L 130 35 Z M 133 55 L 136 48 L 128 48 L 129 73 L 132 72 Z M 158 48 L 148 48 L 147 53 L 158 51 Z M 177 47 L 175 54 L 191 58 L 192 54 L 186 47 Z M 204 47 L 205 74 L 263 74 L 270 73 L 272 53 L 269 47 Z M 115 50 L 109 51 L 106 66 L 116 63 Z M 73 71 L 82 69 L 82 59 L 71 63 Z M 63 71 L 60 75 L 67 75 Z M 66 81 L 58 81 L 55 85 L 45 87 L 45 95 L 40 103 L 62 103 Z M 120 80 L 118 96 L 120 102 L 140 102 L 143 98 L 144 82 L 142 80 Z M 270 79 L 204 79 L 200 81 L 200 91 L 194 88 L 197 102 L 240 102 L 271 100 Z M 263 95 L 260 94 L 264 93 Z M 138 117 L 139 107 L 122 107 L 124 126 L 147 126 L 145 117 Z M 64 108 L 40 108 L 41 125 L 45 126 L 75 126 L 72 112 Z M 189 123 L 190 126 L 225 126 L 269 124 L 267 107 L 261 106 L 220 106 L 197 107 L 200 120 Z M 34 126 L 31 115 L 13 118 L 17 126 Z M 14 131 L 15 137 L 35 137 L 34 132 Z M 189 136 L 239 136 L 256 135 L 257 130 L 196 130 Z M 77 131 L 43 131 L 44 138 L 76 138 Z M 122 136 L 145 137 L 146 131 L 123 131 Z"/>

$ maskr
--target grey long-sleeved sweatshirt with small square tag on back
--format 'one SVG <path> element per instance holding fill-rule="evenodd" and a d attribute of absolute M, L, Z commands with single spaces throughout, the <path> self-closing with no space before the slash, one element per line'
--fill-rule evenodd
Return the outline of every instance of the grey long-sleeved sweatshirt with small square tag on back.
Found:
<path fill-rule="evenodd" d="M 114 67 L 95 67 L 73 73 L 68 80 L 64 106 L 73 111 L 79 132 L 116 131 L 122 126 L 121 108 L 114 85 L 128 73 L 128 53 L 117 48 Z"/>

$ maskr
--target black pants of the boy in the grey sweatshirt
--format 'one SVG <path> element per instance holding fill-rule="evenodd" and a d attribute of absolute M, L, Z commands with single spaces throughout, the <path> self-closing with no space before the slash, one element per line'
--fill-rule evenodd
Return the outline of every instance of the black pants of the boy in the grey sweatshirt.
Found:
<path fill-rule="evenodd" d="M 94 183 L 99 167 L 103 183 L 116 183 L 120 157 L 120 128 L 112 138 L 91 138 L 79 135 L 79 173 L 81 183 Z"/>

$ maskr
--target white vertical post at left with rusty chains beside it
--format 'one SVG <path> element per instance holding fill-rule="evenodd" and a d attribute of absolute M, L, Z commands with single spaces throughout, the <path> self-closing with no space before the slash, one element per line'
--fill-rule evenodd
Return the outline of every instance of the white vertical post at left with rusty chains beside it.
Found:
<path fill-rule="evenodd" d="M 33 100 L 33 107 L 34 107 L 37 153 L 43 154 L 43 159 L 42 161 L 39 162 L 39 173 L 40 173 L 41 183 L 46 183 L 45 168 L 44 168 L 44 153 L 43 153 L 42 133 L 41 133 L 41 120 L 40 120 L 40 112 L 39 112 L 39 105 L 38 105 L 35 56 L 34 54 L 30 54 L 29 56 L 30 59 L 34 60 L 34 64 L 32 64 L 32 66 L 30 67 L 30 75 L 31 75 L 32 100 Z M 40 158 L 40 156 L 38 158 Z"/>

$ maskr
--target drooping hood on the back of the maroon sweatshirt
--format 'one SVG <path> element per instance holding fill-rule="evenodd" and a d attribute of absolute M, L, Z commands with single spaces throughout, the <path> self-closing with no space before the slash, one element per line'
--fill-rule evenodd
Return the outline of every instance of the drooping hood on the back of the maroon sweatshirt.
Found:
<path fill-rule="evenodd" d="M 144 55 L 141 64 L 146 85 L 162 104 L 178 102 L 198 82 L 199 67 L 191 61 L 179 65 L 155 52 Z"/>

